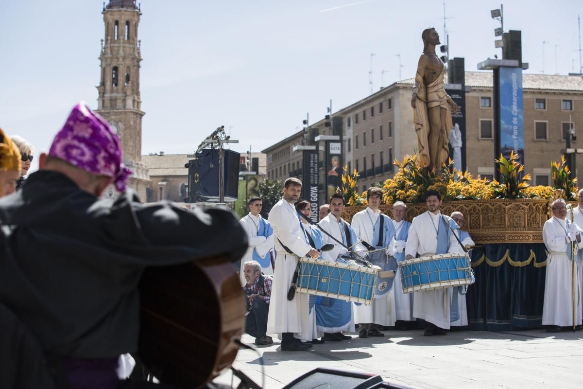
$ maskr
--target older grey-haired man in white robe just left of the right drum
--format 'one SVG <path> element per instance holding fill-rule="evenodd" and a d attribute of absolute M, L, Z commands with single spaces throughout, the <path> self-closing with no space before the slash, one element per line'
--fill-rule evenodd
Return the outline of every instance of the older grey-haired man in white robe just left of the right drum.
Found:
<path fill-rule="evenodd" d="M 393 225 L 395 226 L 395 259 L 397 262 L 401 262 L 405 260 L 405 244 L 411 227 L 411 223 L 405 220 L 407 205 L 402 201 L 395 202 L 392 215 Z M 409 327 L 405 322 L 415 321 L 415 318 L 413 318 L 413 295 L 415 293 L 403 293 L 401 271 L 399 269 L 397 269 L 395 275 L 393 288 L 395 290 L 395 327 L 398 330 L 406 331 Z"/>

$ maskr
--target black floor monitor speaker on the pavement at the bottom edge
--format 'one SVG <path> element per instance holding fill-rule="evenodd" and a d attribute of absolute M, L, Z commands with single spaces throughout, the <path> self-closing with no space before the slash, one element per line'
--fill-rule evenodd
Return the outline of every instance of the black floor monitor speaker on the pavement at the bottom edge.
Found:
<path fill-rule="evenodd" d="M 291 381 L 283 389 L 368 389 L 380 383 L 381 376 L 318 367 Z"/>

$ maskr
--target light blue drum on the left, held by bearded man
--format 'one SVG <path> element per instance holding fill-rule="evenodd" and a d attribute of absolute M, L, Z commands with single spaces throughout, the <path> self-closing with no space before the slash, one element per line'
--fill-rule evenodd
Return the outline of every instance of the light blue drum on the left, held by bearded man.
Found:
<path fill-rule="evenodd" d="M 304 257 L 300 259 L 296 293 L 370 305 L 376 281 L 377 269 Z"/>

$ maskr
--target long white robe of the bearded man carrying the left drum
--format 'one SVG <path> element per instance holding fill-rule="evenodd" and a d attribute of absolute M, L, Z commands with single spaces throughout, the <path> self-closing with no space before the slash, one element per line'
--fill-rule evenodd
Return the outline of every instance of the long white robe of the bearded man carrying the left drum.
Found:
<path fill-rule="evenodd" d="M 298 258 L 308 254 L 311 247 L 306 242 L 293 204 L 281 199 L 273 206 L 267 220 L 273 229 L 278 254 L 275 260 L 267 333 L 293 332 L 297 338 L 311 340 L 308 295 L 296 293 L 293 300 L 287 300 L 287 290 L 296 271 Z M 287 253 L 282 244 L 293 254 Z"/>

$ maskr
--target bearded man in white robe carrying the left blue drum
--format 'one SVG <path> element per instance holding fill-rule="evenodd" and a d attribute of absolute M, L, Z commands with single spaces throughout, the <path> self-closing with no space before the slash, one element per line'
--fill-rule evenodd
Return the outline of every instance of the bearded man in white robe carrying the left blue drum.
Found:
<path fill-rule="evenodd" d="M 291 301 L 287 299 L 287 291 L 293 281 L 298 260 L 305 256 L 318 258 L 320 255 L 318 250 L 308 244 L 294 207 L 300 193 L 301 181 L 293 177 L 287 178 L 283 184 L 283 198 L 273 206 L 268 217 L 278 255 L 275 260 L 267 332 L 281 334 L 282 351 L 307 350 L 311 345 L 301 342 L 300 339 L 312 339 L 308 295 L 296 293 Z"/>

